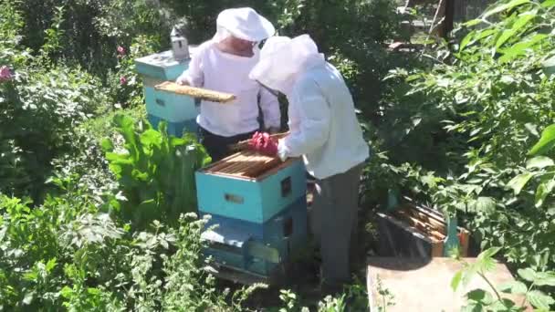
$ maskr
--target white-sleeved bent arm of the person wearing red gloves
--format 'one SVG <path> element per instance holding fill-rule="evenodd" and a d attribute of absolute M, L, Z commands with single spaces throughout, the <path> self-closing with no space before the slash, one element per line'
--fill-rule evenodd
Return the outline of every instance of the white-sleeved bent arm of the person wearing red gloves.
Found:
<path fill-rule="evenodd" d="M 278 155 L 282 161 L 315 151 L 326 143 L 330 133 L 330 105 L 316 81 L 302 81 L 292 98 L 289 105 L 298 109 L 300 122 L 298 131 L 279 140 Z"/>

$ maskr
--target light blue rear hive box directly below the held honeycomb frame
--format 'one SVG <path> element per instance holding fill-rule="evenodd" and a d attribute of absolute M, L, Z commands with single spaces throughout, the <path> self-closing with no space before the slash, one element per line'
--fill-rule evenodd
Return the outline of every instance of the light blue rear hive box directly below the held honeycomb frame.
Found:
<path fill-rule="evenodd" d="M 181 122 L 195 120 L 200 114 L 200 106 L 193 98 L 156 90 L 154 86 L 145 84 L 143 87 L 147 113 L 162 120 Z"/>

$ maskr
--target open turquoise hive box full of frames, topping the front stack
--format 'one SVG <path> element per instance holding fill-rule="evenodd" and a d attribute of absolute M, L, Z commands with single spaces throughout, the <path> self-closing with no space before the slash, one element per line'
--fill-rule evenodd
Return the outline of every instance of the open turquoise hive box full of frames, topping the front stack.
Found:
<path fill-rule="evenodd" d="M 304 198 L 307 191 L 300 159 L 240 151 L 196 172 L 200 213 L 263 224 Z"/>

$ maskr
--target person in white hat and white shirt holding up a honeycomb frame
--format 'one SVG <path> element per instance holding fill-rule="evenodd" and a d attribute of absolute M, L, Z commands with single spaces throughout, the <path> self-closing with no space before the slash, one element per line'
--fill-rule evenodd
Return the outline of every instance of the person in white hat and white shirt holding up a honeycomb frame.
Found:
<path fill-rule="evenodd" d="M 189 68 L 176 80 L 178 84 L 236 95 L 232 103 L 201 102 L 197 117 L 200 140 L 213 161 L 230 153 L 228 145 L 248 140 L 261 129 L 258 105 L 264 129 L 278 131 L 278 99 L 248 78 L 258 62 L 257 44 L 274 32 L 274 26 L 250 7 L 226 9 L 216 19 L 215 36 L 198 47 Z"/>

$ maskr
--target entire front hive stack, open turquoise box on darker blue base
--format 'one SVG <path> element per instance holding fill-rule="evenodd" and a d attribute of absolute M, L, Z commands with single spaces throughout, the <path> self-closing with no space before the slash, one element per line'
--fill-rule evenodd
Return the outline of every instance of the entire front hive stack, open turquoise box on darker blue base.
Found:
<path fill-rule="evenodd" d="M 196 173 L 198 206 L 212 216 L 204 233 L 218 265 L 271 276 L 307 244 L 302 161 L 239 152 Z"/>

